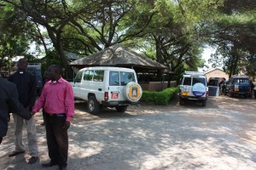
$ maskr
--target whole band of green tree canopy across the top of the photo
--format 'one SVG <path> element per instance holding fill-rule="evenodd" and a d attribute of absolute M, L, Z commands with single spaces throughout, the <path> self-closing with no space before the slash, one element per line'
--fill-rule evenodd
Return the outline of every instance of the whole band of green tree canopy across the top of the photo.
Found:
<path fill-rule="evenodd" d="M 49 47 L 55 48 L 57 55 L 48 54 L 48 63 L 56 58 L 66 65 L 64 50 L 88 55 L 123 43 L 172 65 L 178 80 L 184 70 L 196 71 L 203 65 L 201 49 L 210 42 L 225 56 L 221 62 L 228 71 L 255 72 L 249 65 L 255 63 L 251 56 L 256 54 L 255 0 L 4 0 L 0 4 L 0 35 L 21 33 L 44 45 L 46 54 Z M 0 52 L 8 48 L 25 53 L 19 46 L 13 43 Z"/>

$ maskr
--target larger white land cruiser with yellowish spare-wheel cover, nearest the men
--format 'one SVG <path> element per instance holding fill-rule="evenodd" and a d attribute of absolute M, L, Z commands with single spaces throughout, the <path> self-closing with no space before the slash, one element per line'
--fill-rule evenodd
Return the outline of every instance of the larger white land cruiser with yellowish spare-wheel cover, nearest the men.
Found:
<path fill-rule="evenodd" d="M 93 114 L 101 107 L 115 107 L 125 112 L 128 105 L 138 105 L 143 94 L 136 72 L 120 67 L 84 68 L 71 84 L 75 99 L 88 101 L 88 111 Z"/>

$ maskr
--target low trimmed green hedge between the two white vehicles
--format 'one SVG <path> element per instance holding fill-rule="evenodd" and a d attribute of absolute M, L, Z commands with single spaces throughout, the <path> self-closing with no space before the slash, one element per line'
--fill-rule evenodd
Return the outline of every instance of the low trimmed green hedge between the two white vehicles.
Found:
<path fill-rule="evenodd" d="M 179 88 L 166 88 L 161 92 L 143 91 L 141 101 L 153 102 L 156 105 L 167 105 L 177 94 Z"/>

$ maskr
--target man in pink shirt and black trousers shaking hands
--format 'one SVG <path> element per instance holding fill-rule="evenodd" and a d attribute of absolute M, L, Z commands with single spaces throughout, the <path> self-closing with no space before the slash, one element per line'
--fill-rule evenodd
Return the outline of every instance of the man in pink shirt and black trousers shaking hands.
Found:
<path fill-rule="evenodd" d="M 49 163 L 43 167 L 58 165 L 67 168 L 68 137 L 67 129 L 74 114 L 73 89 L 71 84 L 61 77 L 61 66 L 50 65 L 49 82 L 46 82 L 40 98 L 32 108 L 32 113 L 45 111 L 46 139 L 49 151 Z"/>

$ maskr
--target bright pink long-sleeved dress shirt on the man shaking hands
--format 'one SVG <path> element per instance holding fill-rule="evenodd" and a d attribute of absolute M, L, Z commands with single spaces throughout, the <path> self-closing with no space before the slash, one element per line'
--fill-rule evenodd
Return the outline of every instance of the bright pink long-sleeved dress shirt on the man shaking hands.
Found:
<path fill-rule="evenodd" d="M 73 89 L 71 84 L 62 77 L 55 83 L 45 82 L 41 96 L 37 99 L 32 111 L 42 108 L 49 114 L 66 113 L 66 121 L 70 122 L 74 114 Z"/>

